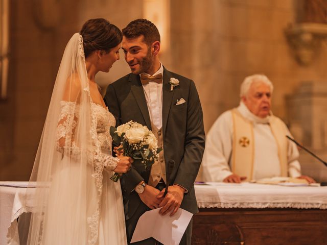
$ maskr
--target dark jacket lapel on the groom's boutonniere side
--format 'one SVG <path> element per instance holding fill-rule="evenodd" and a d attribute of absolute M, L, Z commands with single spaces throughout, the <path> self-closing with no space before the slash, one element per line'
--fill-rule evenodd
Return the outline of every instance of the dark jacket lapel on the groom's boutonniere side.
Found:
<path fill-rule="evenodd" d="M 170 91 L 170 79 L 172 78 L 172 74 L 164 67 L 164 78 L 162 80 L 162 132 L 166 133 L 168 115 L 170 111 L 170 107 L 172 104 L 172 99 L 174 95 L 173 91 Z"/>

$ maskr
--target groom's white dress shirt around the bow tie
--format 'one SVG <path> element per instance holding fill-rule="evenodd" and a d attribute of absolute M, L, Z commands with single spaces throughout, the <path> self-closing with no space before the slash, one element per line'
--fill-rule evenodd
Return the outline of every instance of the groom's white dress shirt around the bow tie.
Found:
<path fill-rule="evenodd" d="M 160 63 L 160 68 L 155 72 L 155 74 L 147 74 L 155 76 L 160 74 L 164 76 L 164 66 Z M 141 76 L 141 75 L 140 75 Z M 157 127 L 157 129 L 161 129 L 162 127 L 162 82 L 156 83 L 155 81 L 149 81 L 149 83 L 142 85 L 143 91 L 145 95 L 145 99 L 147 101 L 148 110 L 150 120 L 152 124 Z"/>

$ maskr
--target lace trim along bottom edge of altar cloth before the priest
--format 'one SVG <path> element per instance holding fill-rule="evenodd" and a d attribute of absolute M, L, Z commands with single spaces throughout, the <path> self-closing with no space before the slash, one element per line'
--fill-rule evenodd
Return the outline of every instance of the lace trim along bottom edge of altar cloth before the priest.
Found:
<path fill-rule="evenodd" d="M 327 209 L 327 204 L 321 203 L 198 203 L 199 208 L 297 208 L 297 209 Z"/>

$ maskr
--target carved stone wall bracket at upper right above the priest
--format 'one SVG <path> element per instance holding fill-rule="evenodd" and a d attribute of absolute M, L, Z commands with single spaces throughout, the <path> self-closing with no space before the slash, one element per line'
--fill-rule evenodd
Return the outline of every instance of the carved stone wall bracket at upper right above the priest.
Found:
<path fill-rule="evenodd" d="M 293 54 L 301 65 L 310 65 L 327 38 L 327 24 L 297 23 L 285 30 Z"/>

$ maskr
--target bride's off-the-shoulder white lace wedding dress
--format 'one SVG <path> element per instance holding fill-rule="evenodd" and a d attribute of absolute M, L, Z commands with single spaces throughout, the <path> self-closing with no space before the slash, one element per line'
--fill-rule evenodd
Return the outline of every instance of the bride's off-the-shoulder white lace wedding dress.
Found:
<path fill-rule="evenodd" d="M 71 131 L 65 121 L 72 110 L 78 111 L 78 105 L 75 102 L 61 102 L 61 123 L 58 125 L 57 132 L 58 142 L 60 142 L 61 138 L 67 137 L 67 132 Z M 90 164 L 86 171 L 84 181 L 86 206 L 77 208 L 78 210 L 85 210 L 85 213 L 81 213 L 80 220 L 74 220 L 72 224 L 66 224 L 67 221 L 65 224 L 61 223 L 61 218 L 64 217 L 58 216 L 58 212 L 62 213 L 62 209 L 65 209 L 65 213 L 70 215 L 76 210 L 74 205 L 70 207 L 62 205 L 75 203 L 78 206 L 79 203 L 85 203 L 79 202 L 83 194 L 68 193 L 64 191 L 65 186 L 62 186 L 63 179 L 74 180 L 73 175 L 78 174 L 79 166 L 72 166 L 72 164 L 67 166 L 63 164 L 58 168 L 60 170 L 56 171 L 51 182 L 49 205 L 45 212 L 46 217 L 44 218 L 42 244 L 127 244 L 120 182 L 110 180 L 110 177 L 114 174 L 110 169 L 116 166 L 117 161 L 116 158 L 111 156 L 111 136 L 109 133 L 110 126 L 115 126 L 115 119 L 108 109 L 99 104 L 91 103 L 91 110 L 96 118 L 96 135 L 94 136 L 97 137 L 97 142 L 100 143 L 103 153 L 99 155 L 88 149 L 88 161 L 98 163 L 93 163 L 97 166 L 96 169 Z M 79 117 L 76 113 L 74 114 L 77 118 Z M 59 145 L 57 145 L 57 150 L 61 150 Z M 71 152 L 73 156 L 80 154 L 79 148 L 76 145 L 72 146 Z M 65 162 L 64 158 L 59 164 Z M 74 167 L 76 167 L 76 171 Z M 102 173 L 101 169 L 103 169 Z M 96 181 L 102 181 L 102 194 L 98 213 L 92 212 L 97 209 L 94 200 L 97 199 L 98 190 L 97 188 L 89 188 L 86 184 L 88 181 L 92 181 L 92 179 L 89 179 L 90 177 L 95 178 Z M 80 186 L 81 184 L 83 183 L 71 183 L 71 185 L 76 185 L 76 188 L 73 188 L 76 190 L 83 189 Z M 58 202 L 58 195 L 60 195 L 60 200 L 64 200 L 63 202 Z M 66 196 L 62 197 L 62 195 Z M 73 214 L 72 216 L 76 217 L 78 215 Z M 81 231 L 85 231 L 85 233 Z M 74 236 L 74 234 L 83 233 L 84 236 Z"/>

